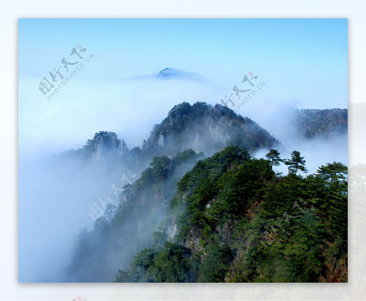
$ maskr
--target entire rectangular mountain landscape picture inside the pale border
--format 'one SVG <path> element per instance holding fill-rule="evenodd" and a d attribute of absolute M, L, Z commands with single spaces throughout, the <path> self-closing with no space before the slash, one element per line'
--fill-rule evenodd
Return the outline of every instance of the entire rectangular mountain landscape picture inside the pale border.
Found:
<path fill-rule="evenodd" d="M 347 281 L 347 168 L 336 199 L 312 175 L 347 165 L 347 19 L 18 29 L 19 282 Z M 261 253 L 298 197 L 315 214 Z"/>

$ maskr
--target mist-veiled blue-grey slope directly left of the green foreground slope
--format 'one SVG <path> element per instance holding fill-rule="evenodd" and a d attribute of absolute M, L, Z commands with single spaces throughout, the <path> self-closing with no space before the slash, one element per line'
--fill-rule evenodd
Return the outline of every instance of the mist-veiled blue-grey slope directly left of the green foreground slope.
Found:
<path fill-rule="evenodd" d="M 94 230 L 85 228 L 75 237 L 68 279 L 111 282 L 116 265 L 128 267 L 133 256 L 152 243 L 176 183 L 202 158 L 191 149 L 174 157 L 155 157 L 139 179 L 123 187 L 117 204 L 106 202 Z"/>

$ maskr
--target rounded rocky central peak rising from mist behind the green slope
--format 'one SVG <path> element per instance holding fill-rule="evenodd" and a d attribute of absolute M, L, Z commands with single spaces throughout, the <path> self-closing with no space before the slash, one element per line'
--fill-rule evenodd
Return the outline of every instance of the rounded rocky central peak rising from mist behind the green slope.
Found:
<path fill-rule="evenodd" d="M 255 122 L 236 115 L 227 107 L 182 103 L 175 105 L 167 118 L 154 126 L 147 142 L 143 141 L 142 150 L 174 155 L 191 148 L 212 155 L 228 145 L 253 151 L 276 143 L 276 139 Z"/>

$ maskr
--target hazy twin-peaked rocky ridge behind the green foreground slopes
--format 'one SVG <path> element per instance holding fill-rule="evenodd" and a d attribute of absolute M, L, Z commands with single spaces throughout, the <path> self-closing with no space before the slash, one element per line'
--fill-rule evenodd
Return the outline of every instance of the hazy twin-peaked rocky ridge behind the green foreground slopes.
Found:
<path fill-rule="evenodd" d="M 237 115 L 217 104 L 181 103 L 175 105 L 160 124 L 153 126 L 142 146 L 129 149 L 116 133 L 100 131 L 77 150 L 63 153 L 63 159 L 76 158 L 91 170 L 144 169 L 156 156 L 174 156 L 187 149 L 212 155 L 228 145 L 238 145 L 250 152 L 270 148 L 279 142 L 253 120 Z"/>

